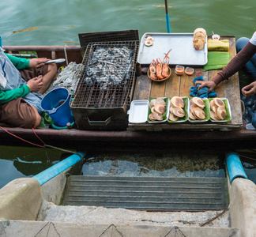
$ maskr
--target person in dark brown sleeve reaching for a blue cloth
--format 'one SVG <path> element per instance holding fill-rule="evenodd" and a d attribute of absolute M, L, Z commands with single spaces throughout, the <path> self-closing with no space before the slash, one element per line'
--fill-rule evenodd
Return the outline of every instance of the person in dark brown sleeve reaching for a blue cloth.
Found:
<path fill-rule="evenodd" d="M 238 54 L 211 81 L 196 81 L 195 85 L 201 84 L 198 86 L 198 90 L 207 87 L 209 92 L 212 92 L 221 81 L 227 80 L 228 77 L 231 77 L 245 66 L 254 82 L 244 86 L 241 92 L 244 96 L 256 94 L 256 32 L 250 40 L 244 37 L 237 40 L 236 48 Z"/>

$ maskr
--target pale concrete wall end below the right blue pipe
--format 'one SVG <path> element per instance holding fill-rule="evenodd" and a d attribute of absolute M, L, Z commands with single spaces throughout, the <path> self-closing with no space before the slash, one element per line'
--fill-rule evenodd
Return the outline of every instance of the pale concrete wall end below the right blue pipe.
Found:
<path fill-rule="evenodd" d="M 230 194 L 232 228 L 238 228 L 241 236 L 256 236 L 256 185 L 249 179 L 236 178 Z"/>

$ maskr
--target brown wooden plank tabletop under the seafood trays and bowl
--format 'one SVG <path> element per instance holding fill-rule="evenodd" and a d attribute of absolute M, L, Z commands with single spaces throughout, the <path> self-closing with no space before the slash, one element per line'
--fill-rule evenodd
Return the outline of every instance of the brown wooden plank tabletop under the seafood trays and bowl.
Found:
<path fill-rule="evenodd" d="M 221 36 L 220 40 L 229 40 L 229 52 L 233 58 L 236 54 L 235 36 Z M 195 68 L 192 76 L 185 73 L 182 76 L 175 74 L 175 68 L 171 67 L 171 77 L 166 81 L 152 81 L 147 75 L 137 77 L 133 100 L 149 100 L 149 98 L 173 96 L 190 96 L 190 87 L 194 86 L 194 78 L 198 73 L 202 73 L 204 81 L 209 81 L 220 70 L 203 71 L 202 67 Z M 239 130 L 243 126 L 243 116 L 240 102 L 239 74 L 235 73 L 228 81 L 223 81 L 215 90 L 218 97 L 227 98 L 231 111 L 232 119 L 229 122 L 161 122 L 161 123 L 130 123 L 131 130 Z"/>

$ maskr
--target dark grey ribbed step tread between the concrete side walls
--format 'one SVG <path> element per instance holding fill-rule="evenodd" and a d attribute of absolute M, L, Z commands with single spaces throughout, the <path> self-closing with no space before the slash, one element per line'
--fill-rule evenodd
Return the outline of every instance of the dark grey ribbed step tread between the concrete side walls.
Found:
<path fill-rule="evenodd" d="M 227 179 L 70 176 L 62 205 L 149 211 L 226 209 Z"/>

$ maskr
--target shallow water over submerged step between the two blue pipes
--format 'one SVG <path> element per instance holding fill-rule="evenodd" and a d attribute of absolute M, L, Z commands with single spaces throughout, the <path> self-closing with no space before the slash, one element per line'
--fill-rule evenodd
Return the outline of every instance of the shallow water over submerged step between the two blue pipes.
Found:
<path fill-rule="evenodd" d="M 225 177 L 224 154 L 196 150 L 91 151 L 83 166 L 84 175 Z"/>

